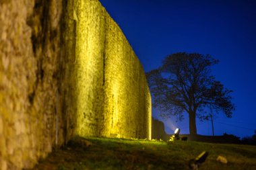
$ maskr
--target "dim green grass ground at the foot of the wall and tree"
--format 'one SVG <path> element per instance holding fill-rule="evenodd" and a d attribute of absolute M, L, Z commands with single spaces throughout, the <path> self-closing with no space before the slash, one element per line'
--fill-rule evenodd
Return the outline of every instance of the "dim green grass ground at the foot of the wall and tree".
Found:
<path fill-rule="evenodd" d="M 208 151 L 209 156 L 200 170 L 256 169 L 256 146 L 115 138 L 75 138 L 34 169 L 189 169 L 189 160 L 202 151 Z M 228 163 L 216 161 L 218 155 L 226 157 Z"/>

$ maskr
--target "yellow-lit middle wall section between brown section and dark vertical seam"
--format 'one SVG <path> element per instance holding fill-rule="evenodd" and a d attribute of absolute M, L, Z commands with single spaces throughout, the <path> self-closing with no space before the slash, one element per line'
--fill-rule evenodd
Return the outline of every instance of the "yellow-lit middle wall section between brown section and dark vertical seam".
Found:
<path fill-rule="evenodd" d="M 104 108 L 105 11 L 98 1 L 74 1 L 77 134 L 99 136 Z"/>

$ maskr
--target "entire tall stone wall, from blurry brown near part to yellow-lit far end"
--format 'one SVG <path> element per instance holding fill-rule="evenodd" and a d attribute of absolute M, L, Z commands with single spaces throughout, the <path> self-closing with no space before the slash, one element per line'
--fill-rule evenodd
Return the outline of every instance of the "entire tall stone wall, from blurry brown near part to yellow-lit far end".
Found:
<path fill-rule="evenodd" d="M 150 138 L 139 60 L 96 0 L 0 0 L 0 169 L 72 136 Z"/>

